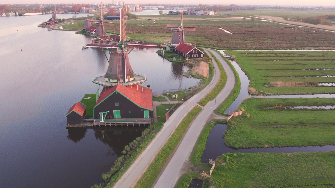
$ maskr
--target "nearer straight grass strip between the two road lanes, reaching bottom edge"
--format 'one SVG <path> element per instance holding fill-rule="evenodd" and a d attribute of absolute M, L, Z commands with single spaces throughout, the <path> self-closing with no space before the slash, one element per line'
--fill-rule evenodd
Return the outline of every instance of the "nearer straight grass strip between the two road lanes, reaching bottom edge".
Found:
<path fill-rule="evenodd" d="M 160 171 L 163 169 L 165 163 L 169 159 L 172 152 L 175 150 L 180 140 L 182 139 L 185 131 L 193 121 L 193 119 L 197 116 L 197 114 L 202 109 L 195 106 L 182 120 L 182 122 L 178 125 L 172 136 L 167 140 L 166 144 L 156 155 L 153 162 L 149 165 L 146 172 L 142 175 L 140 180 L 135 185 L 135 188 L 150 188 L 156 178 L 158 177 Z"/>

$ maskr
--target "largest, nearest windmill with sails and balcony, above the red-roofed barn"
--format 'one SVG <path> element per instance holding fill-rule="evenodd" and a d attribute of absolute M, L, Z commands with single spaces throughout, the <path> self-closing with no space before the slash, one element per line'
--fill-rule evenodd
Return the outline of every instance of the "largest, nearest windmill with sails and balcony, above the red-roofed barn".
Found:
<path fill-rule="evenodd" d="M 120 41 L 113 40 L 101 44 L 86 44 L 88 47 L 109 49 L 110 58 L 106 74 L 100 74 L 93 78 L 92 83 L 97 84 L 97 98 L 100 86 L 115 86 L 122 84 L 131 86 L 146 81 L 144 74 L 135 73 L 130 66 L 128 53 L 130 48 L 157 48 L 154 44 L 137 44 L 129 42 L 127 36 L 127 12 L 120 9 Z"/>

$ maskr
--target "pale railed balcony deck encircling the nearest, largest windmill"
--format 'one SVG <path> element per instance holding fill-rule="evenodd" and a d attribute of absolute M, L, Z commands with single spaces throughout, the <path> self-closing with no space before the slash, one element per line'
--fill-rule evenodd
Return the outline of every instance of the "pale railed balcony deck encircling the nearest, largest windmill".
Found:
<path fill-rule="evenodd" d="M 122 84 L 124 86 L 131 86 L 131 85 L 140 84 L 146 81 L 145 74 L 140 74 L 140 73 L 134 73 L 134 74 L 135 74 L 135 77 L 133 80 L 127 83 L 119 83 L 119 84 Z M 118 84 L 117 80 L 105 78 L 105 74 L 96 75 L 93 78 L 92 83 L 99 84 L 102 86 L 115 86 L 116 84 Z"/>

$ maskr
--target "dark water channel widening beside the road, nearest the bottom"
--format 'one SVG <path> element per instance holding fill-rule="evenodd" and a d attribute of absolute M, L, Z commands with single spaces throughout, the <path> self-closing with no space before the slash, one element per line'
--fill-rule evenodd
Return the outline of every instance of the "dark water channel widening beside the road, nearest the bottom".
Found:
<path fill-rule="evenodd" d="M 274 147 L 274 148 L 247 148 L 235 149 L 224 144 L 223 132 L 227 130 L 226 124 L 216 124 L 210 131 L 202 154 L 201 162 L 208 163 L 209 159 L 215 160 L 225 153 L 298 153 L 298 152 L 328 152 L 335 151 L 335 146 L 307 146 L 307 147 Z"/>

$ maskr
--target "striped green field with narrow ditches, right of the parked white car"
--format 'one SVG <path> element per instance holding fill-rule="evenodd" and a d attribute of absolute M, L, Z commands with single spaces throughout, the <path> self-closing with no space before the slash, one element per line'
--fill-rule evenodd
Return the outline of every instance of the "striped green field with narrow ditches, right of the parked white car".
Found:
<path fill-rule="evenodd" d="M 228 51 L 250 79 L 250 94 L 335 93 L 335 52 Z M 317 70 L 318 69 L 318 70 Z M 280 87 L 282 86 L 282 87 Z M 287 87 L 291 86 L 291 87 Z"/>

